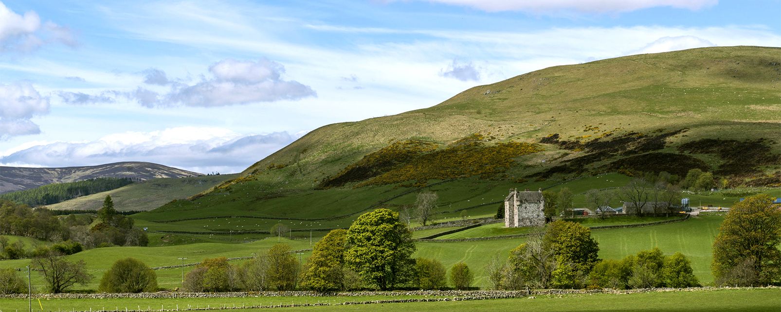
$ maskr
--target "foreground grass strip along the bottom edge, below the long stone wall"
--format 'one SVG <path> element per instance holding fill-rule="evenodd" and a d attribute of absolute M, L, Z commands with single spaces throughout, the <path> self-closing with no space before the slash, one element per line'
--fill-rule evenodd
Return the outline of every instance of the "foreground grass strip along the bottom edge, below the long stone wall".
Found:
<path fill-rule="evenodd" d="M 34 310 L 124 310 L 177 309 L 189 307 L 226 307 L 231 311 L 262 311 L 263 309 L 231 309 L 230 307 L 278 305 L 291 303 L 330 303 L 320 307 L 284 307 L 296 311 L 772 311 L 781 310 L 781 289 L 708 289 L 691 292 L 651 292 L 629 294 L 568 294 L 535 296 L 532 298 L 469 300 L 429 303 L 373 303 L 336 305 L 344 302 L 372 300 L 415 300 L 423 296 L 322 296 L 322 297 L 234 297 L 183 299 L 109 299 L 109 300 L 41 300 Z M 425 298 L 437 298 L 426 296 Z M 452 298 L 452 297 L 451 297 Z M 40 304 L 40 306 L 39 306 Z M 4 310 L 26 310 L 26 299 L 0 299 Z"/>

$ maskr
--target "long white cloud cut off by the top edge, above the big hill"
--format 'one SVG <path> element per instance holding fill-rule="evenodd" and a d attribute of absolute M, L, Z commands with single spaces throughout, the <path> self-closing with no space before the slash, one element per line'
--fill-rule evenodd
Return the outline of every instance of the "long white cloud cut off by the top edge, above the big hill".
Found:
<path fill-rule="evenodd" d="M 718 0 L 427 0 L 448 5 L 462 5 L 487 12 L 561 12 L 589 13 L 630 12 L 667 6 L 676 9 L 698 10 L 716 5 Z"/>

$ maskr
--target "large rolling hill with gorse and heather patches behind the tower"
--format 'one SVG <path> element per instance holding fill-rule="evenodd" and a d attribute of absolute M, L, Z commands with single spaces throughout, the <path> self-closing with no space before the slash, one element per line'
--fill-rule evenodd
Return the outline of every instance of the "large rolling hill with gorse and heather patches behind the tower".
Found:
<path fill-rule="evenodd" d="M 205 224 L 224 216 L 240 217 L 244 229 L 280 220 L 327 229 L 375 207 L 412 204 L 423 188 L 439 193 L 438 219 L 463 209 L 487 216 L 512 187 L 555 190 L 575 179 L 571 186 L 581 192 L 622 186 L 628 175 L 690 168 L 730 186 L 779 186 L 779 132 L 781 48 L 632 55 L 526 73 L 431 108 L 323 126 L 237 179 L 134 218 L 210 231 L 242 229 Z"/>

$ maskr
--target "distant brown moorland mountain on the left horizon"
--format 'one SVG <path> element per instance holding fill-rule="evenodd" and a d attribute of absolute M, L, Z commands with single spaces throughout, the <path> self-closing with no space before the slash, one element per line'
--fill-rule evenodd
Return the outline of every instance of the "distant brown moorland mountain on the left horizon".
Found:
<path fill-rule="evenodd" d="M 144 181 L 187 176 L 202 176 L 202 174 L 142 161 L 123 161 L 105 165 L 63 168 L 0 166 L 0 193 L 27 190 L 52 183 L 75 182 L 103 177 L 130 178 Z"/>

